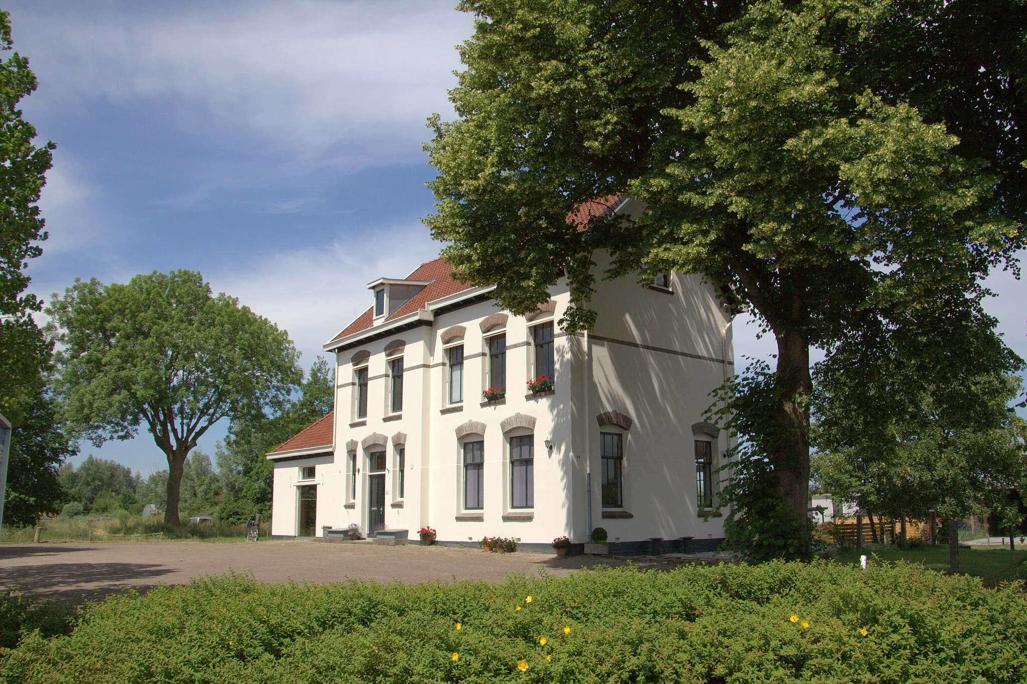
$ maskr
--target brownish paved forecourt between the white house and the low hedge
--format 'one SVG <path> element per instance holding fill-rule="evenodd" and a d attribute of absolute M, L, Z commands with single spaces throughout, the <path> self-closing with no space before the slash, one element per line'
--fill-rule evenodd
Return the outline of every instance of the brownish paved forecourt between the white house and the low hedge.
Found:
<path fill-rule="evenodd" d="M 600 557 L 558 559 L 548 554 L 487 554 L 478 548 L 337 544 L 311 540 L 113 543 L 44 542 L 0 546 L 0 587 L 78 602 L 128 587 L 186 583 L 193 577 L 234 571 L 268 582 L 496 581 L 508 573 L 566 575 L 624 561 Z M 665 562 L 639 559 L 636 565 Z"/>

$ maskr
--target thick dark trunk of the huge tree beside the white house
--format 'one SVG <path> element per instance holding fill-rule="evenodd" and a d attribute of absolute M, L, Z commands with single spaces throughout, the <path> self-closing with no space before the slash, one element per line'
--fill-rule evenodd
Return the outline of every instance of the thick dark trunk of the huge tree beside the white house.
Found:
<path fill-rule="evenodd" d="M 809 528 L 809 397 L 813 382 L 809 376 L 809 343 L 798 331 L 777 334 L 776 380 L 782 404 L 776 416 L 781 439 L 771 455 L 774 493 L 805 536 Z"/>

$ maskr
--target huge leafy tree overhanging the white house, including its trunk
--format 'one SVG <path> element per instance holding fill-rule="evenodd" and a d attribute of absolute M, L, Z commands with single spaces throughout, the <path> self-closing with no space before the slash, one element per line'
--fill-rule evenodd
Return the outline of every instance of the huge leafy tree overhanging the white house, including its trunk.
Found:
<path fill-rule="evenodd" d="M 478 18 L 458 118 L 435 117 L 427 146 L 427 224 L 459 277 L 523 313 L 565 268 L 562 325 L 582 329 L 597 251 L 608 277 L 707 275 L 777 342 L 768 488 L 803 532 L 810 347 L 841 344 L 870 309 L 980 301 L 1023 244 L 1024 3 L 460 7 Z M 568 221 L 624 195 L 647 205 L 634 222 Z"/>

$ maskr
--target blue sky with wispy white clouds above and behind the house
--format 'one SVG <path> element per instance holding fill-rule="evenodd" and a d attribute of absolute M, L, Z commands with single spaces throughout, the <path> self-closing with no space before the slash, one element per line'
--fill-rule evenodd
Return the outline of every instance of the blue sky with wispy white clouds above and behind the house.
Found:
<path fill-rule="evenodd" d="M 75 277 L 199 270 L 287 329 L 304 366 L 366 308 L 365 284 L 436 256 L 420 219 L 432 176 L 425 118 L 452 116 L 454 0 L 15 1 L 23 101 L 58 144 L 41 206 L 50 239 L 29 268 L 48 299 Z M 1022 282 L 989 303 L 1027 355 Z M 736 356 L 772 343 L 736 326 Z M 218 425 L 200 441 L 214 452 Z M 144 431 L 87 454 L 166 467 Z"/>

